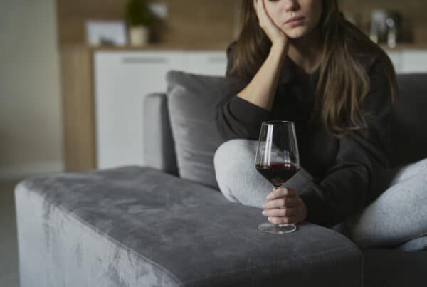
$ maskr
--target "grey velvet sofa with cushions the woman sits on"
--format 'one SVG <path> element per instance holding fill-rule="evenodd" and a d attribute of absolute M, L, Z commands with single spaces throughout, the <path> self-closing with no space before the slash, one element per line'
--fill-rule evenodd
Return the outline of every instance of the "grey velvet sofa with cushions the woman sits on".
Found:
<path fill-rule="evenodd" d="M 426 286 L 427 251 L 360 250 L 310 222 L 263 234 L 228 202 L 213 157 L 223 78 L 170 72 L 144 105 L 147 166 L 49 174 L 16 187 L 21 286 Z M 391 162 L 427 157 L 427 75 L 400 75 Z M 117 150 L 120 152 L 120 150 Z"/>

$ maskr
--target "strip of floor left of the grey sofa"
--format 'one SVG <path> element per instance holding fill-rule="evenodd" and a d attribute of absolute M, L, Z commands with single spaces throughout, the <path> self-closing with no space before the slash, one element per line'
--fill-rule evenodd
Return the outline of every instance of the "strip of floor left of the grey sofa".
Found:
<path fill-rule="evenodd" d="M 0 182 L 0 287 L 18 287 L 18 247 L 14 187 L 17 182 Z"/>

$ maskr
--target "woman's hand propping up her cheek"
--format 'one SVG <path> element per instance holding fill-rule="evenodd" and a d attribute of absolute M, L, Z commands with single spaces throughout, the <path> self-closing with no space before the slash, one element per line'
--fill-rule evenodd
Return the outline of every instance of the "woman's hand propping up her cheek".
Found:
<path fill-rule="evenodd" d="M 265 0 L 253 0 L 260 27 L 270 38 L 273 46 L 288 46 L 288 36 L 273 22 L 265 9 Z"/>

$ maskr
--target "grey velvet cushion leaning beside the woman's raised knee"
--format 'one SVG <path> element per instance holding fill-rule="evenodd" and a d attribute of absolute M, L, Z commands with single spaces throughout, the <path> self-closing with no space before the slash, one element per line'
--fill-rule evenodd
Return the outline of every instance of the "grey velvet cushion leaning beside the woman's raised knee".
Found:
<path fill-rule="evenodd" d="M 223 140 L 215 124 L 223 77 L 167 73 L 168 109 L 179 176 L 218 188 L 214 154 Z"/>

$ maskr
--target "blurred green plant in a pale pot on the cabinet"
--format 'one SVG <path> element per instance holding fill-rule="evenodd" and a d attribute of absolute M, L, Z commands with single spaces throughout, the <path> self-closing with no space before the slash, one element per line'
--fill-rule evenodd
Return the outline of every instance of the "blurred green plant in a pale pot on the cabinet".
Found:
<path fill-rule="evenodd" d="M 125 21 L 129 31 L 130 45 L 147 45 L 151 28 L 157 21 L 157 17 L 149 8 L 147 1 L 128 1 L 125 10 Z"/>

